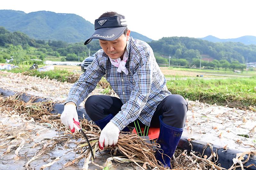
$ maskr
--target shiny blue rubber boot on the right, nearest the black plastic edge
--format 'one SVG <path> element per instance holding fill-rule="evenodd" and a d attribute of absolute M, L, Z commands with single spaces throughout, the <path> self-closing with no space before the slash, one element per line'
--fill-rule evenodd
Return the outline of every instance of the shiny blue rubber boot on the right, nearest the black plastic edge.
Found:
<path fill-rule="evenodd" d="M 160 144 L 161 148 L 156 152 L 156 159 L 162 162 L 164 167 L 171 167 L 171 158 L 177 148 L 184 128 L 179 129 L 164 124 L 163 116 L 159 116 L 159 120 L 160 133 L 157 143 Z M 164 154 L 162 155 L 163 152 Z"/>

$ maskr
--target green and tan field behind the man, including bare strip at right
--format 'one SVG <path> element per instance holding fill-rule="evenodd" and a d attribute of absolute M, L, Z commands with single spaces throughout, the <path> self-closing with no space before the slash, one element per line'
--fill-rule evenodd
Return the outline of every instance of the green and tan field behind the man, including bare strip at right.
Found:
<path fill-rule="evenodd" d="M 39 67 L 42 66 L 39 65 Z M 47 72 L 29 70 L 29 67 L 29 65 L 21 65 L 18 69 L 10 71 L 41 78 L 47 77 L 61 82 L 67 81 L 69 83 L 76 82 L 79 74 L 82 73 L 79 66 L 54 65 L 55 70 Z M 239 74 L 225 70 L 198 70 L 173 67 L 164 67 L 161 70 L 167 78 L 168 90 L 172 94 L 182 95 L 185 99 L 239 108 L 248 108 L 249 106 L 256 105 L 256 71 L 248 71 L 247 74 L 244 71 L 244 73 Z M 226 76 L 223 76 L 224 74 Z M 204 75 L 204 77 L 196 77 L 196 75 Z M 99 87 L 105 88 L 104 94 L 112 92 L 111 87 L 104 78 L 102 78 Z"/>

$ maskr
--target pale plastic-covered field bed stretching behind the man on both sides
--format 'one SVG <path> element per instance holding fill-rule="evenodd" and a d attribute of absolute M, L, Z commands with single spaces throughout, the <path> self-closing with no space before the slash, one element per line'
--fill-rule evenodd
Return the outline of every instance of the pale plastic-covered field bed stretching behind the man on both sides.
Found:
<path fill-rule="evenodd" d="M 46 78 L 25 76 L 21 73 L 0 71 L 0 88 L 51 98 L 53 101 L 64 101 L 72 85 Z M 96 88 L 90 95 L 102 94 L 102 91 L 102 88 Z M 187 122 L 182 134 L 183 138 L 240 152 L 256 149 L 255 112 L 187 101 Z M 236 105 L 239 105 L 239 101 Z"/>

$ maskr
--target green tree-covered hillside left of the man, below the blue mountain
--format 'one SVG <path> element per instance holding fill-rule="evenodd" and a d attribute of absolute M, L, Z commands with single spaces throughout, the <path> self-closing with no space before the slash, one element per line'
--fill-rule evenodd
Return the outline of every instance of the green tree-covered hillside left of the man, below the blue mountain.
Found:
<path fill-rule="evenodd" d="M 91 42 L 95 44 L 98 41 Z M 97 45 L 96 45 L 97 46 Z M 96 49 L 96 51 L 99 48 Z M 95 52 L 91 50 L 91 52 Z M 13 59 L 14 64 L 30 59 L 45 60 L 54 57 L 58 61 L 80 61 L 88 57 L 89 49 L 83 42 L 68 44 L 65 41 L 35 40 L 21 32 L 9 32 L 0 26 L 0 63 Z"/>

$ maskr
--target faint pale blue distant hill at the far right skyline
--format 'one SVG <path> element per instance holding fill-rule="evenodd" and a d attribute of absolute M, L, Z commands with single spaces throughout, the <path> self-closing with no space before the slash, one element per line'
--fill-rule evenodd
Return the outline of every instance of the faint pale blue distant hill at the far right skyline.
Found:
<path fill-rule="evenodd" d="M 256 37 L 251 36 L 251 35 L 246 35 L 243 37 L 231 38 L 231 39 L 220 39 L 220 38 L 214 37 L 212 35 L 208 35 L 208 36 L 206 36 L 204 38 L 200 38 L 200 39 L 211 41 L 211 42 L 241 42 L 245 45 L 251 45 L 251 44 L 256 45 Z"/>

